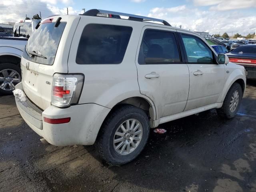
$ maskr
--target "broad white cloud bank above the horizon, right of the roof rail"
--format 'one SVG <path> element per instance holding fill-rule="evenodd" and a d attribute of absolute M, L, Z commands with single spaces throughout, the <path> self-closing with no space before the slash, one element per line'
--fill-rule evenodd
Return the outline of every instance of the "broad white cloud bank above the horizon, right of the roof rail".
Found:
<path fill-rule="evenodd" d="M 239 15 L 239 17 L 238 17 Z M 180 26 L 192 31 L 210 32 L 210 34 L 227 32 L 229 35 L 240 33 L 247 35 L 256 30 L 256 16 L 248 16 L 242 12 L 202 11 L 186 6 L 171 8 L 152 8 L 149 17 L 164 19 L 172 26 Z M 218 19 L 216 19 L 218 16 Z"/>

